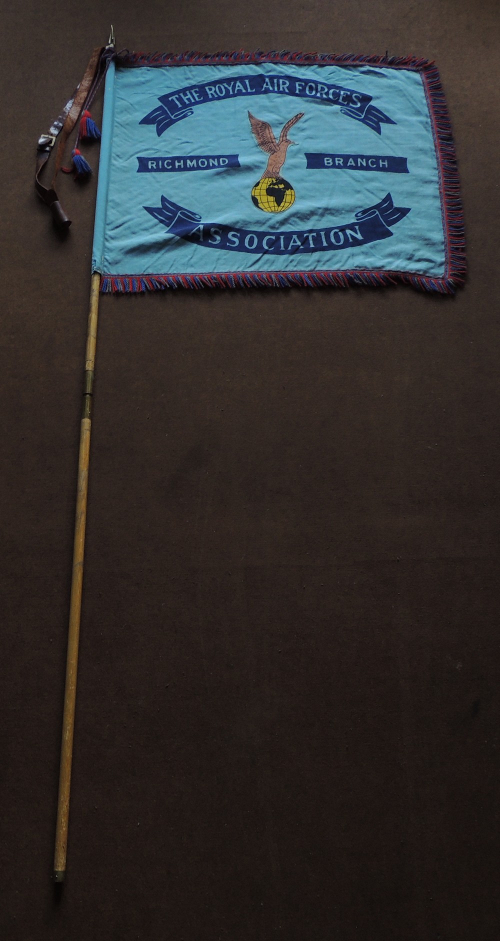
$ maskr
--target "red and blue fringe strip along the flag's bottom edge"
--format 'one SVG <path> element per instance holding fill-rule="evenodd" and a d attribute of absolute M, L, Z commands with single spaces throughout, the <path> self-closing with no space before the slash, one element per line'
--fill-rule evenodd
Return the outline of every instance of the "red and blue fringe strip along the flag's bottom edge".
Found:
<path fill-rule="evenodd" d="M 287 288 L 335 287 L 354 285 L 382 287 L 389 284 L 411 284 L 421 291 L 443 295 L 455 294 L 456 279 L 427 278 L 399 271 L 235 271 L 223 274 L 198 275 L 102 275 L 103 294 L 143 294 L 146 291 L 187 288 Z"/>

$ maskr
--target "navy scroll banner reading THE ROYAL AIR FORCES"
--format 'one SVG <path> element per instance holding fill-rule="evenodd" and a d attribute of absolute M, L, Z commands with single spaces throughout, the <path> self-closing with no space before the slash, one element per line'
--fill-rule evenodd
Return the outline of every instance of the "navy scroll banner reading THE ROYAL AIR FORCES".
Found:
<path fill-rule="evenodd" d="M 341 85 L 327 85 L 315 80 L 299 80 L 296 75 L 237 75 L 226 82 L 203 82 L 179 88 L 173 94 L 161 95 L 161 103 L 153 108 L 139 124 L 155 124 L 160 137 L 178 120 L 189 118 L 198 104 L 220 102 L 229 98 L 246 98 L 255 95 L 291 95 L 294 98 L 315 101 L 319 104 L 336 104 L 347 118 L 359 120 L 372 131 L 381 134 L 380 124 L 395 124 L 379 108 L 371 104 L 372 95 L 365 95 Z"/>

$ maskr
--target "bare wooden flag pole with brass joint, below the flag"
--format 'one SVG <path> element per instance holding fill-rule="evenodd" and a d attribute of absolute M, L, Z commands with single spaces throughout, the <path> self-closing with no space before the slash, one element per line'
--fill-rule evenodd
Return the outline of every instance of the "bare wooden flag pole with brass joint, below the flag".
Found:
<path fill-rule="evenodd" d="M 85 524 L 87 520 L 87 492 L 89 486 L 89 449 L 91 427 L 92 386 L 94 378 L 97 318 L 99 312 L 99 285 L 101 275 L 93 274 L 90 282 L 89 324 L 85 354 L 85 384 L 82 421 L 80 424 L 80 452 L 78 456 L 78 484 L 76 486 L 76 513 L 74 519 L 73 575 L 66 658 L 66 685 L 62 717 L 61 761 L 59 795 L 57 798 L 56 852 L 54 879 L 64 882 L 66 850 L 68 845 L 68 817 L 70 813 L 70 786 L 72 779 L 74 706 L 76 700 L 76 671 L 78 666 L 78 640 L 82 609 L 82 582 L 85 550 Z"/>

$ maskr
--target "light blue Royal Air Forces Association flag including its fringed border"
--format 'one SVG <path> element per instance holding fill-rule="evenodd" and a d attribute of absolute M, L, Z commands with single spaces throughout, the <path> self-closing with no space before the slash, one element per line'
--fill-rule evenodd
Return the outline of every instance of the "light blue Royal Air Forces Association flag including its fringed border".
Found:
<path fill-rule="evenodd" d="M 111 63 L 92 270 L 104 291 L 464 274 L 439 75 L 414 59 Z"/>

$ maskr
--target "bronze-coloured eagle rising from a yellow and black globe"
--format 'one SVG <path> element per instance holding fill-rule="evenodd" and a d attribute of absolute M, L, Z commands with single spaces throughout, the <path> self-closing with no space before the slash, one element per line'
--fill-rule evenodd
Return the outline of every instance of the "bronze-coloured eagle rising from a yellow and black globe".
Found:
<path fill-rule="evenodd" d="M 249 111 L 251 132 L 261 151 L 269 154 L 266 169 L 251 190 L 253 205 L 265 213 L 282 213 L 295 202 L 295 190 L 291 183 L 283 179 L 282 166 L 288 148 L 295 144 L 294 140 L 288 138 L 288 132 L 303 117 L 304 112 L 300 111 L 298 115 L 287 120 L 276 140 L 271 125 L 266 120 L 254 118 Z"/>

